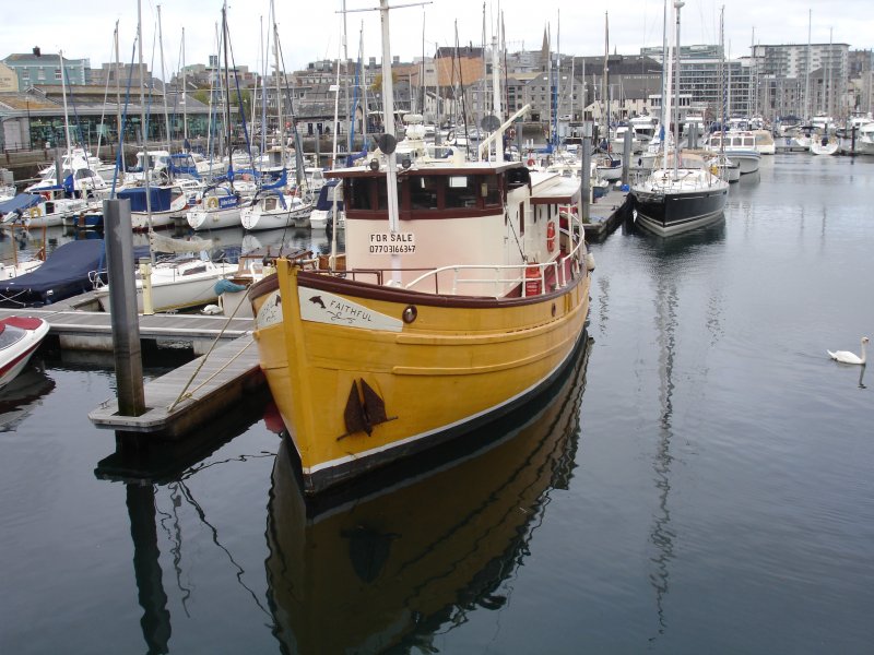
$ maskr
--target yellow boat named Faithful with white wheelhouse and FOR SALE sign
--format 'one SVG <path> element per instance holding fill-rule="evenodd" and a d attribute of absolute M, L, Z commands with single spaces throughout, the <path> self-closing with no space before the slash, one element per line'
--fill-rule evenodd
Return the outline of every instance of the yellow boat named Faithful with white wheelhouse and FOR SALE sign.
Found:
<path fill-rule="evenodd" d="M 539 396 L 584 342 L 591 276 L 580 186 L 505 162 L 394 150 L 388 1 L 385 129 L 343 189 L 345 257 L 287 259 L 249 290 L 253 338 L 305 492 L 471 431 Z M 498 107 L 498 102 L 495 103 Z M 470 441 L 468 441 L 470 443 Z"/>

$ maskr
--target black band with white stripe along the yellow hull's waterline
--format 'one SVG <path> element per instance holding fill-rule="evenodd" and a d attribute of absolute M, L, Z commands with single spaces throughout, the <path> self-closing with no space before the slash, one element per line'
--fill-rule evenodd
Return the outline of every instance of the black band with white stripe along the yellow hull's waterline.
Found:
<path fill-rule="evenodd" d="M 374 469 L 401 460 L 406 460 L 440 444 L 448 443 L 477 428 L 487 426 L 500 417 L 532 402 L 541 393 L 551 388 L 556 380 L 560 379 L 568 367 L 576 361 L 576 356 L 579 354 L 580 347 L 586 344 L 586 335 L 587 332 L 583 327 L 577 335 L 574 347 L 568 350 L 562 362 L 555 367 L 546 378 L 519 395 L 508 400 L 506 403 L 493 407 L 491 410 L 481 413 L 464 421 L 459 421 L 424 434 L 411 437 L 403 443 L 395 442 L 389 444 L 368 455 L 357 456 L 339 464 L 329 462 L 318 469 L 314 469 L 315 467 L 309 471 L 305 469 L 303 472 L 305 493 L 310 496 L 318 495 L 326 489 L 354 480 Z M 292 442 L 294 443 L 294 440 L 292 440 Z"/>

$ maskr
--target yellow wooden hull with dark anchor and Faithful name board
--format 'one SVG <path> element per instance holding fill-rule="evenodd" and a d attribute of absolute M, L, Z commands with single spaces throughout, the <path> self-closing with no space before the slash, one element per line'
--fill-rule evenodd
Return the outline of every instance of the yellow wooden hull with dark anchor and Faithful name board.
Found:
<path fill-rule="evenodd" d="M 583 273 L 558 291 L 489 301 L 339 281 L 280 261 L 275 278 L 250 295 L 255 338 L 306 490 L 459 437 L 535 395 L 583 334 L 589 281 Z M 350 429 L 365 383 L 385 403 L 385 420 Z M 366 394 L 364 403 L 367 421 Z"/>

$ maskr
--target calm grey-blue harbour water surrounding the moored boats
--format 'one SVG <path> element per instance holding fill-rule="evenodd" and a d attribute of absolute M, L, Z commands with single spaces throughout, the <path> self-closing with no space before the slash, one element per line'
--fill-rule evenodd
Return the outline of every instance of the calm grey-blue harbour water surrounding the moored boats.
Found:
<path fill-rule="evenodd" d="M 318 507 L 263 403 L 128 471 L 111 362 L 43 353 L 0 395 L 0 652 L 870 653 L 874 379 L 825 350 L 874 337 L 872 196 L 778 155 L 722 223 L 614 233 L 551 402 Z"/>

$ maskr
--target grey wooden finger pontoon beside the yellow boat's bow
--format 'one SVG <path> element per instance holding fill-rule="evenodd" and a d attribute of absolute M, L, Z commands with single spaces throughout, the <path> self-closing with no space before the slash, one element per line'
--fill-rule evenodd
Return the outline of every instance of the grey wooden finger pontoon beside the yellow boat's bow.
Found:
<path fill-rule="evenodd" d="M 245 334 L 146 383 L 144 414 L 120 416 L 117 398 L 108 398 L 88 418 L 98 428 L 176 440 L 223 412 L 234 412 L 236 403 L 263 385 L 258 350 Z"/>

